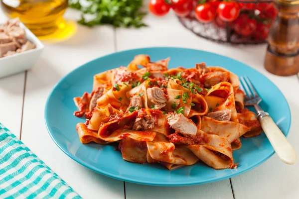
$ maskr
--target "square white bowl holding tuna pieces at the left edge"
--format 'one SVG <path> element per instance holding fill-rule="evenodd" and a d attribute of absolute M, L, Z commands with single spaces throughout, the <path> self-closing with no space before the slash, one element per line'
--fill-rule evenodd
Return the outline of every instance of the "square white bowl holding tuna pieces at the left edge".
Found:
<path fill-rule="evenodd" d="M 0 78 L 32 68 L 44 48 L 41 41 L 23 23 L 20 23 L 20 27 L 24 28 L 27 39 L 36 48 L 0 58 Z"/>

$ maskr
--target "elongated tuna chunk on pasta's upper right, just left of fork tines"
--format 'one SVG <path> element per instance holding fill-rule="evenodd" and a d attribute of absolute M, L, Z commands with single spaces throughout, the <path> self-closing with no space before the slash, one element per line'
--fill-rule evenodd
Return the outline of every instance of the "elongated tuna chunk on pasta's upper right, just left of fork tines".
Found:
<path fill-rule="evenodd" d="M 214 73 L 208 73 L 206 76 L 204 76 L 204 86 L 206 88 L 210 88 L 211 86 L 214 86 L 216 84 L 219 84 L 220 82 L 228 82 L 229 81 L 230 73 L 227 72 L 214 72 Z"/>

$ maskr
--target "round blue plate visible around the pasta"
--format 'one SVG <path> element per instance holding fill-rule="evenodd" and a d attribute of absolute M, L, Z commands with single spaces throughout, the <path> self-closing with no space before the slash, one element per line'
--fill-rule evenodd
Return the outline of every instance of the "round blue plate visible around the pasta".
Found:
<path fill-rule="evenodd" d="M 115 146 L 86 144 L 79 141 L 76 124 L 84 119 L 75 117 L 73 98 L 91 92 L 93 76 L 97 73 L 127 66 L 138 54 L 148 54 L 156 61 L 170 57 L 169 68 L 192 68 L 195 63 L 222 66 L 238 76 L 248 76 L 261 98 L 261 106 L 269 112 L 285 135 L 291 125 L 291 112 L 281 91 L 264 75 L 236 60 L 194 49 L 142 48 L 122 51 L 93 60 L 75 69 L 60 80 L 51 92 L 45 107 L 45 121 L 57 146 L 78 163 L 100 174 L 132 183 L 158 186 L 186 186 L 224 180 L 249 171 L 265 162 L 274 150 L 263 133 L 254 138 L 241 138 L 242 147 L 234 151 L 237 169 L 214 170 L 203 163 L 173 171 L 158 164 L 136 164 L 123 160 Z M 277 103 L 279 102 L 279 105 Z"/>

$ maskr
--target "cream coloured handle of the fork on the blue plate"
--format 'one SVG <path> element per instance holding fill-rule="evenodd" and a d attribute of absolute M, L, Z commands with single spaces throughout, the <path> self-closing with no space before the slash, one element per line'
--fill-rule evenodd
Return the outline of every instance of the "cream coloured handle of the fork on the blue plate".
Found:
<path fill-rule="evenodd" d="M 273 119 L 265 116 L 260 119 L 260 122 L 278 157 L 287 164 L 294 164 L 297 160 L 296 151 Z"/>

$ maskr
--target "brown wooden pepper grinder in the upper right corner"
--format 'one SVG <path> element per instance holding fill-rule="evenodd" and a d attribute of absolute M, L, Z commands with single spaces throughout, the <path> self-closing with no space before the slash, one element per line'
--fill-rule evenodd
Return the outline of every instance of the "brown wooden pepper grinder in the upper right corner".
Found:
<path fill-rule="evenodd" d="M 275 0 L 278 15 L 269 35 L 264 66 L 279 76 L 299 73 L 299 0 Z"/>

